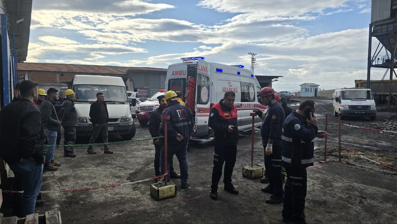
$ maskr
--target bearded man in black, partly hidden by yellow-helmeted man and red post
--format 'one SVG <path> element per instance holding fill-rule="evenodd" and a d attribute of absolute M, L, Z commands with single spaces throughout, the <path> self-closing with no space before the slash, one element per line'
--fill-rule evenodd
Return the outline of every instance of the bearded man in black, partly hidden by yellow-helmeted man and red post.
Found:
<path fill-rule="evenodd" d="M 158 137 L 158 129 L 160 128 L 160 123 L 161 123 L 161 113 L 163 113 L 164 109 L 167 106 L 167 101 L 166 98 L 164 98 L 164 95 L 159 95 L 157 97 L 158 103 L 160 106 L 152 111 L 150 113 L 150 119 L 149 119 L 149 132 L 152 135 L 152 138 Z M 160 152 L 161 152 L 161 144 L 159 139 L 153 139 L 153 144 L 154 144 L 154 175 L 160 176 Z M 170 177 L 171 178 L 181 178 L 181 175 L 177 174 L 173 168 L 173 161 L 171 158 L 170 162 Z M 155 181 L 158 181 L 158 179 L 155 179 Z"/>

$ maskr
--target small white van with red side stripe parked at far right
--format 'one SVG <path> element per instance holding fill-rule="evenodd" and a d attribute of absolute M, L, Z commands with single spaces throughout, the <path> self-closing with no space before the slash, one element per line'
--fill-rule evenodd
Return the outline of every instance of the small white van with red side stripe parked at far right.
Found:
<path fill-rule="evenodd" d="M 376 119 L 376 105 L 370 89 L 335 90 L 332 98 L 333 113 L 335 116 L 341 115 L 341 119 L 346 116 L 370 117 L 372 121 Z"/>

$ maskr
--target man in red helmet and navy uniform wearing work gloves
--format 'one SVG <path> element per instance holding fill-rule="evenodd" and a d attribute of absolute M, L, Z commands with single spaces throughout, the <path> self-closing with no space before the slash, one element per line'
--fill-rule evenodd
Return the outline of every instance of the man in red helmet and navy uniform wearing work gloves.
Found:
<path fill-rule="evenodd" d="M 283 107 L 275 99 L 275 91 L 271 87 L 264 87 L 260 90 L 258 97 L 261 97 L 264 105 L 268 106 L 265 114 L 260 112 L 263 118 L 260 126 L 262 144 L 265 150 L 265 168 L 269 178 L 269 185 L 262 188 L 262 192 L 270 193 L 272 196 L 266 199 L 266 203 L 283 203 L 283 177 L 281 174 L 281 146 L 282 128 L 285 119 Z"/>

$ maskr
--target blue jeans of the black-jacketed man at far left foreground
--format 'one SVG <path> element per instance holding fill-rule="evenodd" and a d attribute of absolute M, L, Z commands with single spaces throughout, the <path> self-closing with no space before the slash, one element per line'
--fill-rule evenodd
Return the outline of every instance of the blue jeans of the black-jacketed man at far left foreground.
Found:
<path fill-rule="evenodd" d="M 56 133 L 56 132 L 55 132 Z M 43 174 L 43 164 L 36 164 L 35 161 L 28 160 L 23 163 L 8 164 L 22 184 L 22 203 L 21 216 L 35 212 L 36 199 L 40 193 L 41 180 Z"/>

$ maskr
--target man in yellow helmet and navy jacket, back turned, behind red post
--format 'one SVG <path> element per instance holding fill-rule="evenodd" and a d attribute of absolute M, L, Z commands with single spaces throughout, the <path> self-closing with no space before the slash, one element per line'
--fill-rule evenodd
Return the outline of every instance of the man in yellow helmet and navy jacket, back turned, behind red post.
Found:
<path fill-rule="evenodd" d="M 162 115 L 170 116 L 170 120 L 167 121 L 167 170 L 170 170 L 171 159 L 173 155 L 176 155 L 179 161 L 179 169 L 181 170 L 181 188 L 186 188 L 189 186 L 187 144 L 189 143 L 195 121 L 190 109 L 179 103 L 175 92 L 172 90 L 167 91 L 164 98 L 167 101 L 168 107 L 164 109 Z M 159 134 L 164 135 L 164 120 L 161 121 Z M 162 145 L 160 153 L 160 169 L 161 173 L 164 174 L 164 139 L 162 138 L 160 142 Z M 168 177 L 169 176 L 170 174 L 168 174 Z"/>

